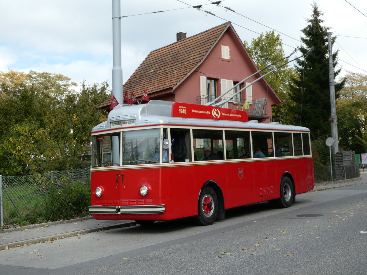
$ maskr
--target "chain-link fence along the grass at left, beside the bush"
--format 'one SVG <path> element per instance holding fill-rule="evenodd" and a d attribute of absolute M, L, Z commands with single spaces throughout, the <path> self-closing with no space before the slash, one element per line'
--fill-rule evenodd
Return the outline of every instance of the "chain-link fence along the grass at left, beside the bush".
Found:
<path fill-rule="evenodd" d="M 77 180 L 89 184 L 90 169 L 52 171 L 34 176 L 0 176 L 1 226 L 39 212 L 51 187 L 61 188 Z"/>

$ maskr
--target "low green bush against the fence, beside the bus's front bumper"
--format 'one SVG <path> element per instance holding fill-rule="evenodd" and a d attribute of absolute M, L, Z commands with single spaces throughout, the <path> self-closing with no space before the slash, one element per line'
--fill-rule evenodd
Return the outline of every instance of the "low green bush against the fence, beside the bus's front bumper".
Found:
<path fill-rule="evenodd" d="M 49 221 L 56 221 L 87 216 L 90 195 L 90 185 L 83 184 L 80 180 L 51 187 L 44 202 L 43 217 Z"/>

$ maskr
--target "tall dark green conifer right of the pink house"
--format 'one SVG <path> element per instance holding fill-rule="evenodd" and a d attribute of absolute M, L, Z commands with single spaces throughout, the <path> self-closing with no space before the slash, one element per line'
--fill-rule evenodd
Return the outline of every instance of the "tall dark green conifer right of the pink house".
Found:
<path fill-rule="evenodd" d="M 295 69 L 298 76 L 292 78 L 290 98 L 295 103 L 290 107 L 292 124 L 305 126 L 311 130 L 312 139 L 327 137 L 331 133 L 330 124 L 330 88 L 329 88 L 329 58 L 328 58 L 328 27 L 322 26 L 320 19 L 323 14 L 316 3 L 312 5 L 313 14 L 302 32 L 304 45 L 299 47 L 302 54 L 313 48 L 313 51 L 303 59 L 296 60 Z M 332 44 L 335 37 L 332 39 Z M 333 54 L 333 66 L 337 65 L 338 51 Z M 334 70 L 334 79 L 340 73 Z M 335 85 L 335 97 L 344 86 L 344 81 Z"/>

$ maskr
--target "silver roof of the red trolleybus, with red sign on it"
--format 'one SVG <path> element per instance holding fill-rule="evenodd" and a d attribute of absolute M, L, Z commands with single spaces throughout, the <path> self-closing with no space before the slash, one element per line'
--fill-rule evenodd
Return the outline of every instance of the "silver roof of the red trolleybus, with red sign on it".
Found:
<path fill-rule="evenodd" d="M 173 105 L 173 107 L 172 107 Z M 208 108 L 212 108 L 213 117 L 208 119 L 208 117 L 201 118 L 199 111 L 194 117 L 185 117 L 185 115 L 190 116 L 189 114 L 182 113 L 178 116 L 178 110 L 175 107 L 183 107 L 183 106 L 196 106 L 196 109 L 206 110 Z M 172 109 L 173 108 L 173 109 Z M 185 108 L 185 107 L 184 107 Z M 228 128 L 248 128 L 248 129 L 269 129 L 269 130 L 280 130 L 280 131 L 307 131 L 308 128 L 294 125 L 280 125 L 279 122 L 270 122 L 270 123 L 258 123 L 257 120 L 247 119 L 247 114 L 244 111 L 235 111 L 238 116 L 242 115 L 242 120 L 239 121 L 232 120 L 231 118 L 221 118 L 218 119 L 214 117 L 215 111 L 229 110 L 224 108 L 212 107 L 212 106 L 204 106 L 199 104 L 187 104 L 187 103 L 177 103 L 163 100 L 150 100 L 148 104 L 134 104 L 134 105 L 123 105 L 121 108 L 116 108 L 110 111 L 108 115 L 108 120 L 98 124 L 92 129 L 92 133 L 101 132 L 101 131 L 109 131 L 112 129 L 121 129 L 121 128 L 131 128 L 138 126 L 151 126 L 151 125 L 178 125 L 178 126 L 210 126 L 210 127 L 228 127 Z M 204 111 L 203 111 L 204 112 Z M 203 113 L 201 112 L 201 113 Z M 246 118 L 244 118 L 243 113 L 246 114 Z M 209 114 L 209 113 L 208 113 Z M 238 115 L 240 114 L 240 115 Z"/>

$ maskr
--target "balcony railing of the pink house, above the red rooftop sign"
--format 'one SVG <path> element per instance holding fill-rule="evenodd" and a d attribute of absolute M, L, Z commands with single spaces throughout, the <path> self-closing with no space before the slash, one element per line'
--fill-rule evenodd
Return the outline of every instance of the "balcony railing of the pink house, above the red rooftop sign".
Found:
<path fill-rule="evenodd" d="M 214 100 L 215 98 L 211 98 L 211 96 L 203 95 L 196 97 L 197 104 L 206 104 Z M 223 96 L 220 101 L 224 101 L 228 99 L 228 97 Z M 268 117 L 268 104 L 266 102 L 266 98 L 258 98 L 256 100 L 237 100 L 231 99 L 229 102 L 225 103 L 221 107 L 235 110 L 243 110 L 246 111 L 249 117 L 253 118 L 266 118 Z"/>

